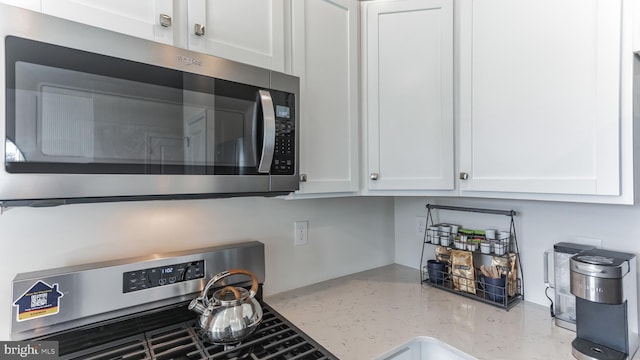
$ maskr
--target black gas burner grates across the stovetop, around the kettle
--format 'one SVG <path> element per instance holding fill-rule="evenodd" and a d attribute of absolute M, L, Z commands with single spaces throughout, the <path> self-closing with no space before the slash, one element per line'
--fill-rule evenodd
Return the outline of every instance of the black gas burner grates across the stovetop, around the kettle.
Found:
<path fill-rule="evenodd" d="M 260 327 L 235 346 L 224 347 L 200 338 L 196 322 L 182 321 L 62 355 L 63 360 L 316 360 L 336 359 L 282 315 L 263 304 Z M 156 314 L 159 316 L 160 314 Z M 173 318 L 169 314 L 169 318 Z M 132 319 L 131 321 L 139 321 Z M 162 323 L 162 322 L 159 322 Z M 121 324 L 125 325 L 125 324 Z M 84 331 L 92 331 L 85 329 Z M 93 331 L 102 331 L 95 329 Z M 73 338 L 73 336 L 69 336 Z M 103 340 L 102 342 L 105 342 Z M 61 344 L 62 346 L 62 344 Z"/>

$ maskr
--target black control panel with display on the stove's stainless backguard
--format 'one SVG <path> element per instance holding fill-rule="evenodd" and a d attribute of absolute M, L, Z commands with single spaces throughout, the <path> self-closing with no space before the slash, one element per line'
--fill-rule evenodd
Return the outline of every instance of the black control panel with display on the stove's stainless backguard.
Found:
<path fill-rule="evenodd" d="M 204 260 L 127 271 L 122 274 L 122 292 L 150 289 L 204 278 Z"/>

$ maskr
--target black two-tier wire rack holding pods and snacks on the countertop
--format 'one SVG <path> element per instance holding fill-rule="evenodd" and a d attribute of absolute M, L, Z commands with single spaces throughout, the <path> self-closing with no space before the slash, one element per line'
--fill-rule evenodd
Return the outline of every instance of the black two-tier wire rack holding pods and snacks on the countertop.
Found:
<path fill-rule="evenodd" d="M 420 258 L 421 282 L 423 284 L 428 284 L 430 286 L 440 288 L 464 297 L 468 297 L 481 302 L 485 302 L 493 306 L 504 308 L 507 311 L 511 309 L 513 306 L 515 306 L 518 302 L 524 300 L 524 279 L 523 279 L 523 273 L 522 273 L 522 264 L 520 261 L 520 254 L 518 250 L 518 241 L 517 241 L 516 228 L 515 228 L 515 222 L 514 222 L 514 217 L 516 216 L 516 212 L 514 210 L 493 210 L 493 209 L 467 208 L 467 207 L 432 205 L 432 204 L 427 204 L 426 208 L 427 208 L 426 228 L 424 231 L 424 238 L 422 242 L 422 254 Z M 459 278 L 459 277 L 456 278 L 456 276 L 452 272 L 451 266 L 448 266 L 446 270 L 442 272 L 439 272 L 439 271 L 434 272 L 432 270 L 431 275 L 435 274 L 436 279 L 435 280 L 429 279 L 429 272 L 427 271 L 426 264 L 429 258 L 433 258 L 433 257 L 425 256 L 425 249 L 429 249 L 429 248 L 435 249 L 434 245 L 439 245 L 439 239 L 434 239 L 433 236 L 439 236 L 439 237 L 444 236 L 445 238 L 448 237 L 448 239 L 450 239 L 451 242 L 447 247 L 454 250 L 458 250 L 460 246 L 464 246 L 462 245 L 461 242 L 456 241 L 458 239 L 458 234 L 438 233 L 437 235 L 434 235 L 431 230 L 429 231 L 427 230 L 429 229 L 430 226 L 433 227 L 435 225 L 447 225 L 447 224 L 434 224 L 432 210 L 462 211 L 462 212 L 472 212 L 472 213 L 489 214 L 489 215 L 503 215 L 503 216 L 509 217 L 510 219 L 509 238 L 506 239 L 506 241 L 504 241 L 502 245 L 500 245 L 505 247 L 504 250 L 501 250 L 499 251 L 499 254 L 496 254 L 495 251 L 493 250 L 490 253 L 486 253 L 486 252 L 483 253 L 480 251 L 480 249 L 475 249 L 475 250 L 469 250 L 468 248 L 460 249 L 464 251 L 470 251 L 471 253 L 473 253 L 474 267 L 476 268 L 475 278 L 473 279 Z M 494 241 L 496 241 L 496 244 L 499 243 L 499 240 L 494 240 Z M 438 243 L 438 244 L 434 244 L 434 243 Z M 495 246 L 496 244 L 493 244 L 493 245 Z M 458 246 L 458 248 L 456 246 Z M 477 263 L 476 259 L 480 259 L 481 261 L 479 262 L 483 262 L 482 261 L 484 259 L 483 257 L 499 256 L 499 257 L 509 258 L 510 254 L 512 253 L 517 254 L 516 262 L 517 262 L 518 270 L 516 271 L 516 274 L 519 276 L 516 276 L 514 282 L 512 282 L 511 284 L 505 284 L 504 287 L 493 286 L 491 284 L 488 284 L 488 280 L 485 280 L 484 276 L 481 275 L 481 271 L 475 265 Z M 505 269 L 503 269 L 503 271 L 505 271 Z M 506 270 L 506 276 L 507 278 L 509 277 L 508 270 Z M 460 281 L 474 282 L 476 293 L 473 294 L 471 292 L 465 292 L 459 289 L 455 289 L 454 283 L 457 282 L 458 284 L 460 284 Z M 512 294 L 509 294 L 510 292 Z M 504 296 L 500 296 L 496 294 L 504 294 Z"/>

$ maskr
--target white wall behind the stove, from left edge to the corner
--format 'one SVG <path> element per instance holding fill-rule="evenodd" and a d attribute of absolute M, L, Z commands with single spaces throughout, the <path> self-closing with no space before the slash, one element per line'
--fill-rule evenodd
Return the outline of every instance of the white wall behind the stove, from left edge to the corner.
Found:
<path fill-rule="evenodd" d="M 293 222 L 309 244 L 293 245 Z M 0 339 L 17 273 L 242 240 L 266 249 L 265 295 L 391 264 L 393 200 L 236 198 L 13 208 L 0 215 Z"/>

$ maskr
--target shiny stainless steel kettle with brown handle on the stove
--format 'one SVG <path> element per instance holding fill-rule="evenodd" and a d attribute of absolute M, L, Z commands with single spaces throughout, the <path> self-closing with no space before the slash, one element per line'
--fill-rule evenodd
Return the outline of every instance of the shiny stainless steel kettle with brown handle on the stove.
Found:
<path fill-rule="evenodd" d="M 225 286 L 211 298 L 209 289 L 230 275 L 243 274 L 251 278 L 251 289 Z M 200 335 L 214 344 L 231 345 L 251 335 L 262 321 L 262 307 L 255 299 L 258 278 L 248 270 L 223 271 L 209 280 L 199 297 L 189 304 L 189 310 L 200 314 Z"/>

